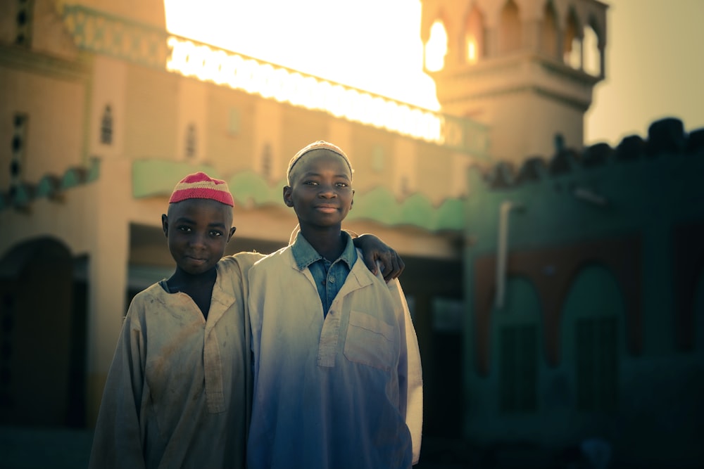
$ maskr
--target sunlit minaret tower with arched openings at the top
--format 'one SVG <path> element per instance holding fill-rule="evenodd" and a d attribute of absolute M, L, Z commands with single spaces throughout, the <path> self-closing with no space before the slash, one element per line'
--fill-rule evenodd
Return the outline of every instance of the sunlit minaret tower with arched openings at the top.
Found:
<path fill-rule="evenodd" d="M 557 135 L 582 148 L 584 113 L 605 76 L 606 4 L 421 2 L 424 68 L 442 112 L 489 125 L 497 160 L 549 158 Z"/>

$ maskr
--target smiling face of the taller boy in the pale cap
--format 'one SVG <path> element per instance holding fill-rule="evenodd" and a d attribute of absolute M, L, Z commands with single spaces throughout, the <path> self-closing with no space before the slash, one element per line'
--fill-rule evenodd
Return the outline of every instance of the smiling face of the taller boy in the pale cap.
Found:
<path fill-rule="evenodd" d="M 298 222 L 339 226 L 352 208 L 354 191 L 347 162 L 330 150 L 312 150 L 291 171 L 284 187 L 284 203 L 294 207 Z"/>

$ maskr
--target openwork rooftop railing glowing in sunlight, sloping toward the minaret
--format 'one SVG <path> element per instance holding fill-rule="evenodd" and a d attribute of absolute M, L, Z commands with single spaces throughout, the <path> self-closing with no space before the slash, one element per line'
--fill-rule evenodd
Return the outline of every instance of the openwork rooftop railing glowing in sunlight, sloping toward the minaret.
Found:
<path fill-rule="evenodd" d="M 85 6 L 64 6 L 63 18 L 75 44 L 86 51 L 322 110 L 474 158 L 488 157 L 489 133 L 484 125 L 469 119 L 436 113 Z"/>

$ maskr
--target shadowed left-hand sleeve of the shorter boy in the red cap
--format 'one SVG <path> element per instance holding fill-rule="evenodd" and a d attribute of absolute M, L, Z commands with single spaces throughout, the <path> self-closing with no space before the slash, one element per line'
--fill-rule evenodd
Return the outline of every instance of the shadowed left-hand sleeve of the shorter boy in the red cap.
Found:
<path fill-rule="evenodd" d="M 130 306 L 108 371 L 90 469 L 145 467 L 139 419 L 144 387 L 144 340 L 142 331 L 131 321 L 133 314 Z"/>

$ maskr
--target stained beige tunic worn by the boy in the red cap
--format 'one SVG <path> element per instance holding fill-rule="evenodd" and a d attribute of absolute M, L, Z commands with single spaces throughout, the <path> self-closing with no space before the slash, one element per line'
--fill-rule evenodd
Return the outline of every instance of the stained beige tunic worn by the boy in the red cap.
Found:
<path fill-rule="evenodd" d="M 161 283 L 132 300 L 103 392 L 91 468 L 244 468 L 251 406 L 246 278 L 218 262 L 208 320 Z"/>

